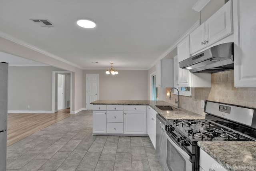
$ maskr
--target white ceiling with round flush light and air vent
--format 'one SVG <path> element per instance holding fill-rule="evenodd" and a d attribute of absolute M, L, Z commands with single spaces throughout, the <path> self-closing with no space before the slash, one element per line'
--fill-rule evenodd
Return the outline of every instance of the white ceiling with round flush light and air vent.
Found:
<path fill-rule="evenodd" d="M 147 70 L 199 20 L 196 2 L 0 0 L 0 32 L 84 69 L 114 62 L 116 69 Z M 80 28 L 81 18 L 94 20 L 96 28 Z M 54 27 L 29 19 L 48 19 Z"/>

